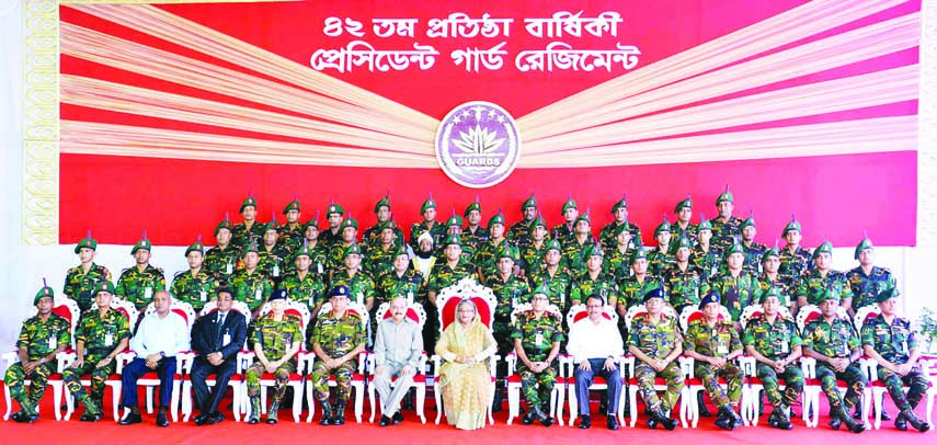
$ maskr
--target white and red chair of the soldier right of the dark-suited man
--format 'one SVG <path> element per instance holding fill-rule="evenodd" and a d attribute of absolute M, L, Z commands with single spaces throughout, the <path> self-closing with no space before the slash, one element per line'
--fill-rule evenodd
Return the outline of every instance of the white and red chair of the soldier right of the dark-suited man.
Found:
<path fill-rule="evenodd" d="M 264 303 L 261 307 L 259 318 L 266 317 L 271 311 L 270 303 Z M 301 356 L 306 353 L 306 327 L 311 321 L 311 313 L 306 305 L 287 300 L 286 309 L 284 310 L 284 317 L 295 317 L 300 320 L 300 332 L 302 336 L 299 340 L 299 352 L 296 354 L 294 360 L 296 360 L 296 372 L 289 374 L 289 383 L 287 386 L 293 388 L 293 421 L 295 423 L 299 423 L 299 414 L 302 411 L 302 369 L 304 369 L 304 360 Z M 244 351 L 241 354 L 238 354 L 238 361 L 241 363 L 240 368 L 247 369 L 253 364 L 254 360 L 256 360 L 256 354 L 253 351 Z M 247 379 L 243 381 L 243 388 L 240 391 L 240 401 L 241 407 L 244 412 L 244 417 L 251 417 L 251 404 L 250 398 L 248 397 L 248 383 Z M 260 378 L 261 386 L 261 413 L 266 414 L 266 389 L 273 388 L 276 386 L 276 378 L 273 373 L 263 373 Z"/>

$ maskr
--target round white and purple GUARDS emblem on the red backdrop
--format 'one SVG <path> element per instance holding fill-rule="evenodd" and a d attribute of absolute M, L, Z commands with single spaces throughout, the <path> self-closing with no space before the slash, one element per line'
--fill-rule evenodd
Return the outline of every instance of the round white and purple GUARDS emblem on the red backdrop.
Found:
<path fill-rule="evenodd" d="M 436 130 L 436 160 L 453 181 L 483 189 L 507 178 L 521 157 L 517 124 L 491 102 L 466 102 Z"/>

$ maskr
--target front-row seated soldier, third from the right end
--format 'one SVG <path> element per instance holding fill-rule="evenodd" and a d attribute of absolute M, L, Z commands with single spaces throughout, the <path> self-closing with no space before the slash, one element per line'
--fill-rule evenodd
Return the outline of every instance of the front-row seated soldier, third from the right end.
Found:
<path fill-rule="evenodd" d="M 749 320 L 742 344 L 745 352 L 755 357 L 756 375 L 762 379 L 765 395 L 774 407 L 768 425 L 778 430 L 791 430 L 788 410 L 803 392 L 803 372 L 793 362 L 800 358 L 803 341 L 793 321 L 778 313 L 780 299 L 777 289 L 762 294 L 759 301 L 764 312 Z M 786 388 L 780 391 L 779 379 Z"/>

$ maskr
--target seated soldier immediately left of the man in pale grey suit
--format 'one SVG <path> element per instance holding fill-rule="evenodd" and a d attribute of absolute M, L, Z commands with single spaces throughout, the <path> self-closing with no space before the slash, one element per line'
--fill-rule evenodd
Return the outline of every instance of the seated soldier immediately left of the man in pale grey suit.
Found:
<path fill-rule="evenodd" d="M 365 347 L 365 330 L 362 319 L 347 311 L 348 288 L 338 286 L 329 293 L 332 310 L 316 320 L 316 329 L 309 338 L 310 349 L 316 353 L 310 384 L 315 388 L 316 401 L 322 407 L 320 425 L 345 424 L 345 404 L 352 391 L 352 375 L 357 356 Z M 335 411 L 329 403 L 329 376 L 335 376 Z M 358 395 L 361 397 L 361 395 Z"/>

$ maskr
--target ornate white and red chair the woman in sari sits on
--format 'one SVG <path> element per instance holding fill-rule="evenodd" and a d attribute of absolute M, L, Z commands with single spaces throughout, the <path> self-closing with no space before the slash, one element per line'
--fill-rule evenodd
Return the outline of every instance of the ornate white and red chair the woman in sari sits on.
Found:
<path fill-rule="evenodd" d="M 479 318 L 488 329 L 491 329 L 494 323 L 494 308 L 496 299 L 491 288 L 482 286 L 472 278 L 462 278 L 456 284 L 446 287 L 436 296 L 436 305 L 439 308 L 439 334 L 445 332 L 446 328 L 456 320 L 456 307 L 462 299 L 470 299 L 475 303 L 478 309 Z M 443 365 L 443 357 L 433 355 L 434 385 L 438 381 L 439 367 Z M 488 401 L 488 422 L 494 424 L 494 417 L 491 413 L 491 404 L 494 402 L 494 379 L 495 365 L 498 364 L 498 355 L 492 355 L 489 360 L 489 370 L 491 372 L 491 400 Z M 443 419 L 443 393 L 438 387 L 434 387 L 433 395 L 436 399 L 436 424 Z"/>

